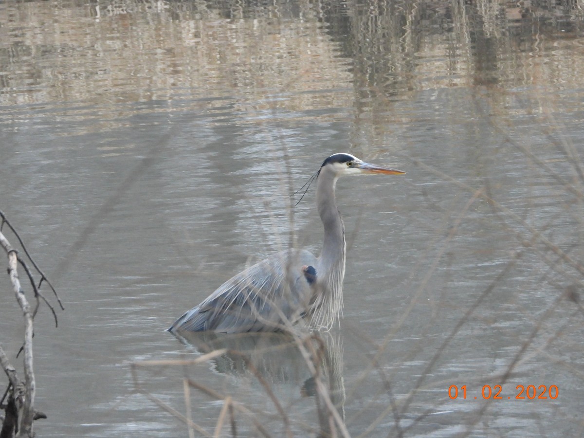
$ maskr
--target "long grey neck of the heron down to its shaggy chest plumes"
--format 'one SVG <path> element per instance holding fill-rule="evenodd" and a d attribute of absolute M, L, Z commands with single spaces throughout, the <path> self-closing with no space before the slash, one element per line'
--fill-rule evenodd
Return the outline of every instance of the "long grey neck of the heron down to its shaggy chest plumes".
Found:
<path fill-rule="evenodd" d="M 321 293 L 313 307 L 315 325 L 330 329 L 342 314 L 345 277 L 345 227 L 335 203 L 336 176 L 326 168 L 317 179 L 318 214 L 325 237 L 318 258 L 317 279 Z"/>

